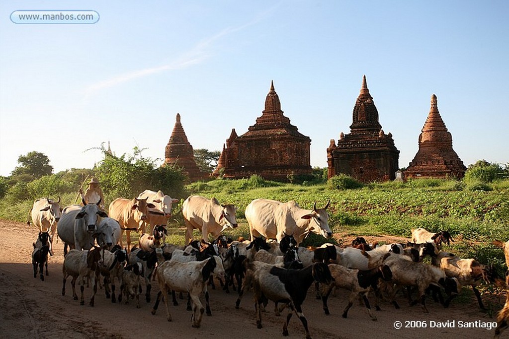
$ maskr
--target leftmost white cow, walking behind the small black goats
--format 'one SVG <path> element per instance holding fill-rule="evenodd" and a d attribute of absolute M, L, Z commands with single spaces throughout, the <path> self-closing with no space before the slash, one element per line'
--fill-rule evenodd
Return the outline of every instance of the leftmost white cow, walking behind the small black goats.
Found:
<path fill-rule="evenodd" d="M 32 221 L 35 227 L 41 232 L 48 232 L 51 236 L 50 242 L 56 232 L 56 224 L 60 220 L 61 208 L 59 201 L 53 201 L 49 198 L 41 198 L 34 201 L 34 206 L 30 210 L 29 214 L 32 213 Z M 30 218 L 30 217 L 29 217 Z M 30 225 L 30 219 L 27 221 Z"/>

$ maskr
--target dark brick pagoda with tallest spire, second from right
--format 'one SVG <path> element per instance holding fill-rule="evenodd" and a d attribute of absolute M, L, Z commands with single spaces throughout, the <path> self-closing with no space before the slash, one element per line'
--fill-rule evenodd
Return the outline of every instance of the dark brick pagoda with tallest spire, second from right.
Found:
<path fill-rule="evenodd" d="M 350 134 L 340 134 L 337 145 L 327 148 L 328 177 L 347 174 L 363 181 L 392 180 L 398 170 L 400 151 L 392 134 L 385 134 L 378 122 L 378 110 L 367 89 L 366 76 L 352 114 Z"/>

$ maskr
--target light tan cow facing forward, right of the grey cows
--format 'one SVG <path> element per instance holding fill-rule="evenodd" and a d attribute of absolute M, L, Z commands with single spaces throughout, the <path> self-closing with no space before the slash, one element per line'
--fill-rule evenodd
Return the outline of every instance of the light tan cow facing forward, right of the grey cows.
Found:
<path fill-rule="evenodd" d="M 123 236 L 126 231 L 127 251 L 131 251 L 131 231 L 139 232 L 147 220 L 149 208 L 155 208 L 154 204 L 147 203 L 147 198 L 132 200 L 117 198 L 109 204 L 109 218 L 119 222 L 122 229 L 120 245 L 124 247 Z"/>

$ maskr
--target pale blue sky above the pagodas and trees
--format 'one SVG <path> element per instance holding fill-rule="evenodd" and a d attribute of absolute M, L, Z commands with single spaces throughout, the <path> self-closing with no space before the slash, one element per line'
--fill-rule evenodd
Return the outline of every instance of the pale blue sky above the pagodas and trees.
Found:
<path fill-rule="evenodd" d="M 22 24 L 19 10 L 93 10 L 91 24 Z M 366 75 L 407 167 L 433 94 L 468 166 L 509 163 L 509 2 L 16 1 L 0 3 L 0 175 L 44 153 L 54 172 L 92 168 L 104 143 L 164 160 L 181 122 L 221 150 L 261 116 L 274 81 L 308 136 L 311 165 L 350 132 Z"/>

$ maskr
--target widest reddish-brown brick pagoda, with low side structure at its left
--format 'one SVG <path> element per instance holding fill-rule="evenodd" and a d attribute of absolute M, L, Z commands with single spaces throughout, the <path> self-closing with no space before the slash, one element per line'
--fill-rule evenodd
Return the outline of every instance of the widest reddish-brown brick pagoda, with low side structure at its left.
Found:
<path fill-rule="evenodd" d="M 310 175 L 310 143 L 311 139 L 300 134 L 283 115 L 271 82 L 262 116 L 241 136 L 232 130 L 212 175 L 246 178 L 258 174 L 279 181 L 288 180 L 289 174 Z"/>

